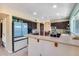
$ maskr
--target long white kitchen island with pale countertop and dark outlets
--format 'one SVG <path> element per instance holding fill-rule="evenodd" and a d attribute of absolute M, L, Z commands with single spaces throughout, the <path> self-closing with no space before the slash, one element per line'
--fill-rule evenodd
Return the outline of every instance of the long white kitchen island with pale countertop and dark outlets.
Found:
<path fill-rule="evenodd" d="M 29 56 L 79 56 L 79 40 L 70 35 L 59 38 L 40 35 L 28 35 Z"/>

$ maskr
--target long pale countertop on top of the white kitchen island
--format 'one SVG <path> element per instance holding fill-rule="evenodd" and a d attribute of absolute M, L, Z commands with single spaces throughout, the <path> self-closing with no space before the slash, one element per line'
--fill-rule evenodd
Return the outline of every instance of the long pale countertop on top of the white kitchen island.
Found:
<path fill-rule="evenodd" d="M 65 45 L 79 47 L 79 40 L 74 40 L 70 35 L 62 34 L 59 38 L 57 38 L 57 37 L 29 34 L 28 37 L 39 39 L 39 40 L 45 40 L 45 41 L 50 41 L 50 42 L 57 42 L 57 43 L 65 44 Z"/>

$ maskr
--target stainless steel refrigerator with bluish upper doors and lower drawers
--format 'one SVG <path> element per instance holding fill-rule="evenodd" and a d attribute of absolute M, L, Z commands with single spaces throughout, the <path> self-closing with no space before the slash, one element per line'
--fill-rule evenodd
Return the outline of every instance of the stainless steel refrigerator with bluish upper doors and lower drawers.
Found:
<path fill-rule="evenodd" d="M 13 52 L 27 47 L 27 35 L 27 23 L 13 22 Z"/>

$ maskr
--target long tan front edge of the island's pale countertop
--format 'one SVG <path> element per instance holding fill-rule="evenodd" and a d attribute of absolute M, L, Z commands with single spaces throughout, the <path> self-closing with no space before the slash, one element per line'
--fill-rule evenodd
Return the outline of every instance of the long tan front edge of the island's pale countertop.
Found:
<path fill-rule="evenodd" d="M 49 42 L 57 42 L 57 43 L 64 44 L 64 45 L 79 47 L 79 44 L 74 44 L 74 43 L 71 43 L 71 42 L 69 43 L 69 42 L 63 42 L 63 41 L 59 41 L 59 40 L 58 41 L 57 40 L 48 40 L 48 39 L 53 39 L 53 37 L 48 36 L 48 38 L 39 38 L 39 37 L 47 37 L 47 36 L 39 36 L 39 37 L 38 36 L 39 35 L 31 35 L 30 34 L 30 35 L 28 35 L 28 38 L 31 37 L 31 38 L 35 38 L 35 39 L 39 39 L 39 40 L 44 40 L 44 41 L 49 41 Z"/>

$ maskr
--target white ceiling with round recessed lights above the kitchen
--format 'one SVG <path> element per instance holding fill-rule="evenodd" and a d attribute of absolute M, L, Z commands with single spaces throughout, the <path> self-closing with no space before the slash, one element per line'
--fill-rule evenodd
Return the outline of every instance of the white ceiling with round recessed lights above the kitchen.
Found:
<path fill-rule="evenodd" d="M 45 20 L 68 18 L 75 3 L 6 3 L 3 5 L 28 13 L 40 20 Z"/>

